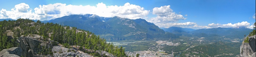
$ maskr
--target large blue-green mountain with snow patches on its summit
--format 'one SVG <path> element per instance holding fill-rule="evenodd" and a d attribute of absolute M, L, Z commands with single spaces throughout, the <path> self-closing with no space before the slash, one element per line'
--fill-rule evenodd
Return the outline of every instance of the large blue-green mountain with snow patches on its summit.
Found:
<path fill-rule="evenodd" d="M 179 37 L 173 33 L 165 32 L 144 19 L 131 20 L 118 16 L 68 15 L 47 22 L 88 30 L 107 39 L 107 41 L 154 40 Z"/>

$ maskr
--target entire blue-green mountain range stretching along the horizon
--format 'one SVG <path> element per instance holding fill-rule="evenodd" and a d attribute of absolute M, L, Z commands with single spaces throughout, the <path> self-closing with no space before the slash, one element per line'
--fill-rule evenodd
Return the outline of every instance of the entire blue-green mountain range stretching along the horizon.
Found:
<path fill-rule="evenodd" d="M 13 19 L 0 19 L 13 20 Z M 33 20 L 37 21 L 37 20 Z M 100 17 L 98 15 L 68 15 L 53 20 L 41 21 L 44 23 L 52 22 L 66 26 L 77 27 L 94 32 L 107 41 L 138 41 L 138 40 L 156 40 L 178 38 L 179 35 L 197 36 L 197 37 L 229 37 L 242 38 L 244 34 L 248 35 L 253 29 L 246 27 L 235 28 L 209 28 L 192 29 L 181 27 L 159 28 L 153 23 L 144 19 L 127 19 L 118 16 Z"/>

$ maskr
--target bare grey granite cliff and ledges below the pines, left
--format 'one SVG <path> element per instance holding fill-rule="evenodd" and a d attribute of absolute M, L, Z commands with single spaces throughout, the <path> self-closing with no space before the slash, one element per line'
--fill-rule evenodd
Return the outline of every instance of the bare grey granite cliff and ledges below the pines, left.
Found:
<path fill-rule="evenodd" d="M 39 35 L 35 35 L 34 37 L 21 36 L 17 39 L 19 47 L 12 47 L 2 50 L 0 52 L 0 57 L 93 57 L 87 53 L 77 50 L 75 47 L 68 49 L 60 45 L 53 46 L 51 45 L 53 41 L 50 41 L 50 39 L 48 39 L 48 41 L 43 41 L 42 39 L 43 37 Z M 42 48 L 42 46 L 51 46 L 53 55 L 38 54 L 38 52 L 41 51 L 40 48 Z M 99 53 L 100 55 L 106 55 L 108 57 L 115 57 L 106 51 L 97 50 L 96 53 Z"/>

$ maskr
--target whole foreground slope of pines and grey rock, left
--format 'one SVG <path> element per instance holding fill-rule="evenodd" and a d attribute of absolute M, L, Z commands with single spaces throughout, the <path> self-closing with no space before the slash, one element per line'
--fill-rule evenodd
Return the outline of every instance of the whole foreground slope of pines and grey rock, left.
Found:
<path fill-rule="evenodd" d="M 76 27 L 42 23 L 39 20 L 37 22 L 29 19 L 0 21 L 0 39 L 0 50 L 21 47 L 23 52 L 29 53 L 28 55 L 20 56 L 29 56 L 30 54 L 33 57 L 56 56 L 56 54 L 62 54 L 61 50 L 53 49 L 58 46 L 63 46 L 63 49 L 65 49 L 64 47 L 69 48 L 64 53 L 75 52 L 75 54 L 67 54 L 67 56 L 78 55 L 81 52 L 88 53 L 91 56 L 107 56 L 106 54 L 101 54 L 104 51 L 117 57 L 126 56 L 124 48 L 106 43 L 104 38 L 100 38 L 100 36 L 96 36 L 92 32 L 78 30 Z M 23 47 L 23 45 L 27 47 Z M 77 54 L 78 51 L 81 52 Z"/>

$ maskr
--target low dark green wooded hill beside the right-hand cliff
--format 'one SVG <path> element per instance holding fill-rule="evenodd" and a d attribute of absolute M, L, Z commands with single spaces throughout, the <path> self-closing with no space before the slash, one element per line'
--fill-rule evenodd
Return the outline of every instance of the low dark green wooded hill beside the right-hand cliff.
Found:
<path fill-rule="evenodd" d="M 225 54 L 234 54 L 229 55 L 228 57 L 235 57 L 236 55 L 240 54 L 240 45 L 239 42 L 215 42 L 213 44 L 207 44 L 207 45 L 199 45 L 195 46 L 193 48 L 188 49 L 187 51 L 181 52 L 180 57 L 185 57 L 185 54 L 190 55 L 199 55 L 200 57 L 213 57 L 214 55 L 223 55 Z M 195 52 L 198 52 L 195 53 Z M 209 55 L 209 56 L 208 56 Z M 227 57 L 227 56 L 224 56 Z"/>

